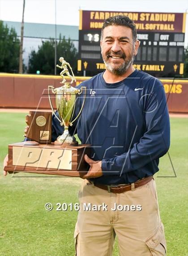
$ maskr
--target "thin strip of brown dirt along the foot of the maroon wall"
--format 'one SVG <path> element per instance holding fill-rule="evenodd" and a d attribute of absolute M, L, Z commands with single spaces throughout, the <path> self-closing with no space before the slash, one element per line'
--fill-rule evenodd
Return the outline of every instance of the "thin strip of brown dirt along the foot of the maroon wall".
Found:
<path fill-rule="evenodd" d="M 29 113 L 29 111 L 36 111 L 36 109 L 29 108 L 0 108 L 0 112 L 17 112 L 17 113 Z M 50 109 L 39 109 L 38 111 L 52 112 Z M 185 117 L 188 118 L 188 113 L 170 113 L 170 117 Z"/>

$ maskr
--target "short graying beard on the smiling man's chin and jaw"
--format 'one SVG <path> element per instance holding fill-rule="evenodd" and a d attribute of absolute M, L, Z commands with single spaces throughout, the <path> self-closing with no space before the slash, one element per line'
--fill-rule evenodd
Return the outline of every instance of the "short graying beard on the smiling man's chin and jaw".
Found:
<path fill-rule="evenodd" d="M 104 59 L 103 59 L 103 62 L 105 63 L 105 65 L 107 67 L 107 70 L 109 70 L 110 72 L 112 72 L 116 76 L 122 76 L 128 70 L 128 68 L 132 65 L 133 56 L 132 56 L 132 58 L 129 58 L 128 60 L 126 60 L 119 67 L 112 67 L 111 63 L 106 62 Z"/>

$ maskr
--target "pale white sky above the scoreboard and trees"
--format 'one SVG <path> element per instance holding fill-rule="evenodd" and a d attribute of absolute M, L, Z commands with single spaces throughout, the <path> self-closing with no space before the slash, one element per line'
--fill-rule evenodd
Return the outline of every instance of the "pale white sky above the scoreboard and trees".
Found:
<path fill-rule="evenodd" d="M 22 9 L 23 0 L 0 0 L 0 20 L 21 22 Z M 79 9 L 188 13 L 188 0 L 26 0 L 24 21 L 78 26 Z M 185 37 L 187 45 L 188 14 Z"/>

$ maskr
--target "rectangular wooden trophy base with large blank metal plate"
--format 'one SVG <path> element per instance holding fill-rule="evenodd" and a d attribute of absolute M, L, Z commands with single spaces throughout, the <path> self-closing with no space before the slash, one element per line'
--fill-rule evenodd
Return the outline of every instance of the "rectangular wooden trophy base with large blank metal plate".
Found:
<path fill-rule="evenodd" d="M 85 154 L 90 154 L 90 145 L 14 143 L 9 145 L 9 162 L 4 171 L 81 177 L 89 170 Z"/>

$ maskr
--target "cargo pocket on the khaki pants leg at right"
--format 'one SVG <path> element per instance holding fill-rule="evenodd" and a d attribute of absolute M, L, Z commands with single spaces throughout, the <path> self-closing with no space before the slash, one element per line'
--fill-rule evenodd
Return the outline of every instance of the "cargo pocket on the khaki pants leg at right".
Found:
<path fill-rule="evenodd" d="M 167 253 L 167 244 L 165 240 L 164 227 L 161 224 L 146 241 L 152 256 L 165 256 Z"/>

